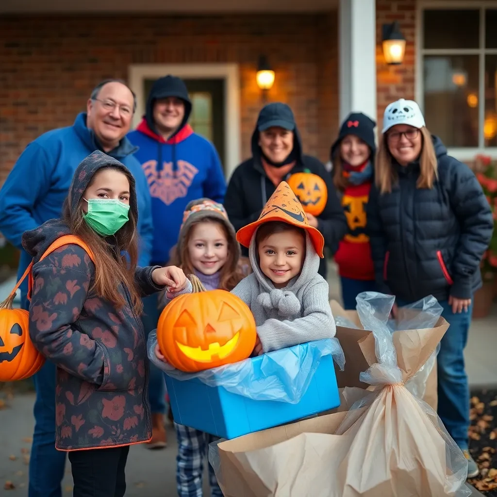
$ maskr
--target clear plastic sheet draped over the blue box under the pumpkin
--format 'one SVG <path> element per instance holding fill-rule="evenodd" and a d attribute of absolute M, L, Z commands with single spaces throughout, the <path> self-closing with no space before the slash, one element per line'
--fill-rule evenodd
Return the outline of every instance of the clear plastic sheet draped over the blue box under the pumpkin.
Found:
<path fill-rule="evenodd" d="M 253 400 L 280 401 L 297 404 L 307 391 L 322 357 L 331 355 L 343 371 L 345 357 L 336 338 L 316 340 L 275 350 L 235 364 L 183 373 L 159 360 L 155 355 L 156 330 L 148 339 L 150 360 L 167 375 L 185 381 L 198 378 L 210 387 L 224 387 L 229 392 Z"/>

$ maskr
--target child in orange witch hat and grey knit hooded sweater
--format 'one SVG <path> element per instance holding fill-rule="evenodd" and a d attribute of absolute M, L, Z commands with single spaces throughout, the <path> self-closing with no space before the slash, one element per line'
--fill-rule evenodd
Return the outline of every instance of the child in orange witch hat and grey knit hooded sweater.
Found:
<path fill-rule="evenodd" d="M 255 353 L 335 335 L 328 283 L 318 274 L 323 235 L 309 225 L 285 181 L 269 198 L 259 219 L 238 231 L 237 240 L 249 249 L 253 273 L 232 293 L 248 305 L 255 318 Z M 188 281 L 181 293 L 191 291 Z M 178 293 L 167 293 L 168 297 L 175 295 Z M 149 343 L 149 350 L 153 349 Z M 162 359 L 157 346 L 155 351 Z"/>

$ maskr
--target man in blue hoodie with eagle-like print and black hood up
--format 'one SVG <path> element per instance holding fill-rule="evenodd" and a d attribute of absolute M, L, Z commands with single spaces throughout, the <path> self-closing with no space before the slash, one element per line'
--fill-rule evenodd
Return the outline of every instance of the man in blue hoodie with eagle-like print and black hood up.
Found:
<path fill-rule="evenodd" d="M 194 133 L 188 124 L 191 102 L 185 83 L 174 76 L 157 80 L 150 90 L 146 114 L 128 134 L 140 149 L 135 154 L 145 171 L 152 195 L 154 246 L 151 263 L 164 265 L 176 245 L 183 212 L 191 200 L 207 197 L 223 202 L 226 181 L 214 145 Z M 144 299 L 147 329 L 157 327 L 157 297 Z M 165 382 L 162 372 L 150 368 L 149 399 L 153 436 L 150 448 L 163 447 Z"/>

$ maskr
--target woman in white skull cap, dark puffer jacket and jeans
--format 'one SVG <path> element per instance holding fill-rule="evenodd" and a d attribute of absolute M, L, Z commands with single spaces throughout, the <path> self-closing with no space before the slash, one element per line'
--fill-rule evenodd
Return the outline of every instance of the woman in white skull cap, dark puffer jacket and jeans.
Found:
<path fill-rule="evenodd" d="M 489 203 L 471 169 L 447 155 L 416 102 L 385 109 L 367 206 L 377 284 L 396 306 L 433 295 L 450 328 L 438 354 L 438 414 L 468 458 L 469 388 L 463 349 L 480 261 L 492 237 Z"/>

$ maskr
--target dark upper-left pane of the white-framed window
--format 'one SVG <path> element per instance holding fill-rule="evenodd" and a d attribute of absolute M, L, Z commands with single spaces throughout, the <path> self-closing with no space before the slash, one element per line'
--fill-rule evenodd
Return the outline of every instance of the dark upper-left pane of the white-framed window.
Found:
<path fill-rule="evenodd" d="M 479 48 L 479 10 L 424 10 L 424 48 Z"/>

